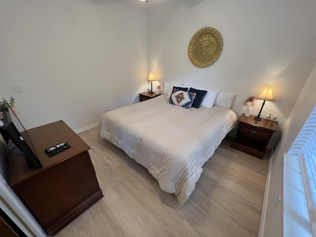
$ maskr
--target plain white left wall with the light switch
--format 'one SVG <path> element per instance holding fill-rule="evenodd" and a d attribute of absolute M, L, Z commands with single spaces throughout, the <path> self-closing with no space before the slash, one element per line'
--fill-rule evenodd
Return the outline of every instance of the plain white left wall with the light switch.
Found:
<path fill-rule="evenodd" d="M 146 13 L 111 0 L 1 0 L 0 94 L 27 129 L 77 130 L 147 88 Z M 13 93 L 11 84 L 25 92 Z"/>

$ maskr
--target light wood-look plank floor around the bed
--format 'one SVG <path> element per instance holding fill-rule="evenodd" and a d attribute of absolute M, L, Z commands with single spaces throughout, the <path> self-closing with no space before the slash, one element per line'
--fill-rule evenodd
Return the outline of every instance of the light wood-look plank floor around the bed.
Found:
<path fill-rule="evenodd" d="M 99 138 L 96 127 L 79 136 L 91 147 L 104 197 L 56 237 L 258 236 L 269 155 L 239 152 L 225 138 L 181 206 L 146 168 Z"/>

